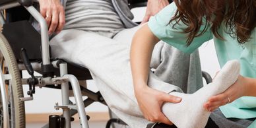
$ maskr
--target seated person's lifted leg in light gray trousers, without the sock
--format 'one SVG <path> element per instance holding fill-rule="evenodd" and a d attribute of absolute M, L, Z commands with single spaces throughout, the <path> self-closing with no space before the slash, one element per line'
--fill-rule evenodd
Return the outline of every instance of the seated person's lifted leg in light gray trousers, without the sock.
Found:
<path fill-rule="evenodd" d="M 110 109 L 130 127 L 146 127 L 133 92 L 130 46 L 97 34 L 63 30 L 50 42 L 53 57 L 87 67 Z M 148 85 L 166 93 L 181 90 L 150 73 Z"/>

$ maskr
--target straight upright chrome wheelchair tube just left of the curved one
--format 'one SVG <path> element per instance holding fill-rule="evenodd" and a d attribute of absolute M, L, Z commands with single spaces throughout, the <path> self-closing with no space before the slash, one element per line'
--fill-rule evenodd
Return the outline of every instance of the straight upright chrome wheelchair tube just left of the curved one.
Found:
<path fill-rule="evenodd" d="M 59 64 L 59 71 L 60 75 L 67 74 L 67 63 Z M 61 84 L 61 98 L 62 98 L 62 105 L 69 105 L 69 82 L 63 82 Z M 70 119 L 70 110 L 63 109 L 63 117 L 65 117 L 65 128 L 71 127 L 71 119 Z"/>

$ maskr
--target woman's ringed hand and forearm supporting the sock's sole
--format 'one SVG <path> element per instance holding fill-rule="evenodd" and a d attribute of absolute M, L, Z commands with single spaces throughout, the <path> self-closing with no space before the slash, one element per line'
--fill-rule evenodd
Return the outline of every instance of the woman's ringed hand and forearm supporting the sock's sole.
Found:
<path fill-rule="evenodd" d="M 225 92 L 210 97 L 204 107 L 209 111 L 213 111 L 219 106 L 225 105 L 228 98 L 230 98 L 230 102 L 233 102 L 241 96 L 256 96 L 256 79 L 240 75 L 238 80 Z"/>

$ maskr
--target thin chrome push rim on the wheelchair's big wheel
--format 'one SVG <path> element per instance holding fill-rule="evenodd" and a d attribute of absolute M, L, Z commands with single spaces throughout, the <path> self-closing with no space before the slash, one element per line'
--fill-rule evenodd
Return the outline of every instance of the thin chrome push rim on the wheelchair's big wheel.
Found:
<path fill-rule="evenodd" d="M 0 68 L 0 90 L 1 90 L 1 97 L 2 97 L 2 104 L 3 104 L 3 127 L 9 128 L 9 110 L 8 110 L 8 101 L 6 95 L 6 88 L 5 88 L 5 77 L 3 76 L 3 71 Z"/>

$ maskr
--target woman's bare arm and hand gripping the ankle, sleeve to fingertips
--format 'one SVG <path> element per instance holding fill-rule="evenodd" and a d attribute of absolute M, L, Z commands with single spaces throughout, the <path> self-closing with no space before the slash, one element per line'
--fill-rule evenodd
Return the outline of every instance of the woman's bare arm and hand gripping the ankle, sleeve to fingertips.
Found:
<path fill-rule="evenodd" d="M 147 85 L 150 59 L 154 45 L 159 39 L 152 34 L 148 25 L 145 24 L 133 37 L 131 45 L 131 70 L 135 96 L 143 115 L 153 122 L 172 124 L 161 112 L 164 102 L 177 103 L 181 98 L 171 96 L 165 92 L 154 90 Z"/>

